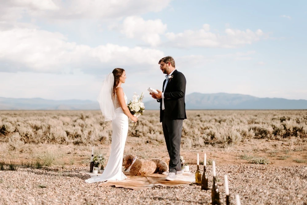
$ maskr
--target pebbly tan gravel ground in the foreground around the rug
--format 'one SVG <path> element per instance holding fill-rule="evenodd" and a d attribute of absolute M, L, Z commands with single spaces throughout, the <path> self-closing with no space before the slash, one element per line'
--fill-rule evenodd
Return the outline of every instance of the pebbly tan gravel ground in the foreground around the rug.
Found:
<path fill-rule="evenodd" d="M 87 184 L 81 166 L 43 170 L 19 168 L 0 172 L 0 204 L 210 204 L 211 191 L 195 184 L 153 187 L 134 191 Z M 190 165 L 192 173 L 196 165 Z M 201 169 L 202 171 L 202 169 Z M 212 167 L 207 167 L 212 186 Z M 307 204 L 307 167 L 240 164 L 216 167 L 222 204 L 224 174 L 228 175 L 231 203 L 239 194 L 241 204 Z"/>

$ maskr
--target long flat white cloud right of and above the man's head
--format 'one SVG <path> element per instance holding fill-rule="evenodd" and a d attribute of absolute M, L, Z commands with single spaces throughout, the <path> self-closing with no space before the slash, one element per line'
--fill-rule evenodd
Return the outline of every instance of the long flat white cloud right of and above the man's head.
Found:
<path fill-rule="evenodd" d="M 227 28 L 224 34 L 209 32 L 210 26 L 204 24 L 200 30 L 185 30 L 182 33 L 166 33 L 168 44 L 175 47 L 214 47 L 214 48 L 235 48 L 259 41 L 265 34 L 258 29 L 255 32 L 249 29 L 235 30 Z"/>

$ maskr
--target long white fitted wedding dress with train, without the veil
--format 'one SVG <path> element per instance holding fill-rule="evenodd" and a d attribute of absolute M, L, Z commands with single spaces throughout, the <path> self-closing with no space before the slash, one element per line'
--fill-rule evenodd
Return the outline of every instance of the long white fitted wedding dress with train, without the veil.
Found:
<path fill-rule="evenodd" d="M 124 99 L 125 103 L 127 104 L 127 97 L 125 93 Z M 85 182 L 87 183 L 120 181 L 127 178 L 122 172 L 122 158 L 128 134 L 128 116 L 126 116 L 126 114 L 122 111 L 116 94 L 115 108 L 115 119 L 112 120 L 112 144 L 110 158 L 103 173 L 100 176 L 93 176 L 86 179 Z"/>

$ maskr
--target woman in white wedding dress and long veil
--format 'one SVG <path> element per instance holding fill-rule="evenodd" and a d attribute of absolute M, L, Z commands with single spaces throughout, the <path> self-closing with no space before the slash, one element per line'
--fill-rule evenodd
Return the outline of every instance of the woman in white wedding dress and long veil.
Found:
<path fill-rule="evenodd" d="M 126 73 L 122 68 L 115 68 L 103 81 L 97 100 L 105 121 L 112 120 L 111 153 L 103 173 L 86 179 L 87 183 L 120 181 L 127 178 L 122 173 L 122 158 L 128 133 L 128 117 L 134 122 L 138 121 L 138 118 L 133 116 L 127 107 L 127 97 L 121 87 L 125 81 Z"/>

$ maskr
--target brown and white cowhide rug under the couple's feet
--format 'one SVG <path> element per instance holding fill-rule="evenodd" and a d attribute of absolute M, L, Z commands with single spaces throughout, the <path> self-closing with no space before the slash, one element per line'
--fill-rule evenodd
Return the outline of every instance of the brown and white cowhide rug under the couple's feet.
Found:
<path fill-rule="evenodd" d="M 81 174 L 88 174 L 91 176 L 97 176 L 101 174 L 93 174 L 88 171 L 80 171 Z M 156 186 L 163 187 L 176 187 L 185 184 L 191 184 L 195 182 L 195 175 L 188 172 L 183 175 L 177 175 L 177 178 L 173 181 L 166 181 L 166 175 L 162 174 L 146 174 L 146 175 L 138 175 L 138 176 L 130 176 L 127 175 L 130 179 L 125 179 L 122 181 L 107 181 L 103 183 L 99 183 L 99 187 L 102 186 L 115 186 L 115 187 L 123 187 L 126 189 L 133 190 L 141 190 L 148 189 Z"/>

